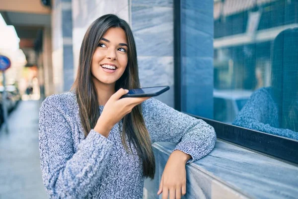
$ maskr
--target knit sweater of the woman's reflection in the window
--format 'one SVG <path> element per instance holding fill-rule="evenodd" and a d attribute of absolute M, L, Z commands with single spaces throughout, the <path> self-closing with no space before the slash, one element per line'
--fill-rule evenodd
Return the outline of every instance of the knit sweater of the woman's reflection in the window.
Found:
<path fill-rule="evenodd" d="M 298 140 L 298 132 L 280 128 L 278 105 L 272 88 L 256 90 L 237 115 L 234 125 Z"/>

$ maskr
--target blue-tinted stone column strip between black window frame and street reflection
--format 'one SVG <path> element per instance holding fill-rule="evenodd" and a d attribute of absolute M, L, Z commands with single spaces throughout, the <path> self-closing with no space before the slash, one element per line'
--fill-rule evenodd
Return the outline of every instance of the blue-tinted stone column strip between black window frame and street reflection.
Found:
<path fill-rule="evenodd" d="M 181 0 L 182 111 L 213 118 L 213 0 Z"/>

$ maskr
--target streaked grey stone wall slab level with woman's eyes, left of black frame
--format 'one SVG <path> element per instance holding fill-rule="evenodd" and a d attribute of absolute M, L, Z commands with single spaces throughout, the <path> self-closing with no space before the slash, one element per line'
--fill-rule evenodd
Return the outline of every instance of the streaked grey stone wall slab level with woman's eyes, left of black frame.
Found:
<path fill-rule="evenodd" d="M 173 8 L 132 5 L 139 56 L 173 56 Z"/>

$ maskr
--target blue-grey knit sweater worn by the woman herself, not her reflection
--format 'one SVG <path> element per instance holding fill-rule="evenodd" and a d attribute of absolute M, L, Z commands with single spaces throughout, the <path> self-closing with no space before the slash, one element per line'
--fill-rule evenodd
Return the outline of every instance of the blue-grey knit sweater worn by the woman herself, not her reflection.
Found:
<path fill-rule="evenodd" d="M 104 106 L 99 106 L 100 113 Z M 142 103 L 151 142 L 178 143 L 175 150 L 206 156 L 214 147 L 214 128 L 149 99 Z M 108 138 L 93 129 L 85 137 L 73 92 L 46 98 L 39 115 L 39 150 L 44 186 L 53 199 L 141 199 L 144 177 L 136 149 L 128 154 L 118 122 Z"/>

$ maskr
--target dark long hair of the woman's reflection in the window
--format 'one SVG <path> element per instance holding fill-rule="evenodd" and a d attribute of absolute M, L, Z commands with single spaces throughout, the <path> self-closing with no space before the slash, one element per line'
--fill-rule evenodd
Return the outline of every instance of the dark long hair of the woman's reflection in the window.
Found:
<path fill-rule="evenodd" d="M 298 28 L 277 35 L 273 44 L 272 86 L 281 128 L 298 131 Z"/>

